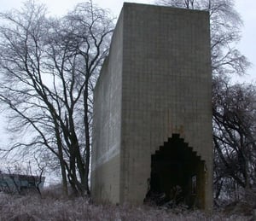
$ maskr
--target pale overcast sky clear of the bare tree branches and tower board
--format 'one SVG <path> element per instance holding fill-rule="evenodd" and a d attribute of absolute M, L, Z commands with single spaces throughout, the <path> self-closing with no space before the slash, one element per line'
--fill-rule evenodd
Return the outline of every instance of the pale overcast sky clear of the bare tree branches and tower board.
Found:
<path fill-rule="evenodd" d="M 68 9 L 72 9 L 76 3 L 85 2 L 86 0 L 35 0 L 38 3 L 45 3 L 52 15 L 63 15 Z M 13 8 L 20 8 L 22 0 L 0 0 L 0 11 L 5 11 Z M 108 8 L 113 12 L 113 15 L 118 16 L 124 1 L 122 0 L 93 0 L 102 8 Z M 127 0 L 125 2 L 133 3 L 153 3 L 154 0 Z M 253 66 L 248 70 L 248 76 L 243 77 L 241 81 L 254 81 L 256 83 L 256 0 L 236 0 L 236 9 L 240 13 L 244 21 L 242 28 L 241 43 L 238 48 L 243 55 L 246 55 Z M 238 78 L 237 78 L 238 79 Z M 1 120 L 2 121 L 2 120 Z M 2 121 L 3 125 L 3 121 Z M 3 143 L 5 136 L 3 128 L 0 125 L 0 143 Z"/>

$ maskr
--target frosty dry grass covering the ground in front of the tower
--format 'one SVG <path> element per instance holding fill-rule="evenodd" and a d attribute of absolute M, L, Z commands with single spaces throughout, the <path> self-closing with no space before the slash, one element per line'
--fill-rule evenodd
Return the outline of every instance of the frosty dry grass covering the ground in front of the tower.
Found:
<path fill-rule="evenodd" d="M 5 195 L 0 193 L 0 220 L 252 220 L 251 217 L 214 212 L 166 210 L 150 206 L 95 205 L 79 197 L 64 199 L 53 194 Z"/>

